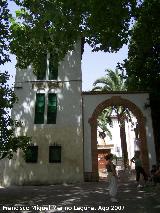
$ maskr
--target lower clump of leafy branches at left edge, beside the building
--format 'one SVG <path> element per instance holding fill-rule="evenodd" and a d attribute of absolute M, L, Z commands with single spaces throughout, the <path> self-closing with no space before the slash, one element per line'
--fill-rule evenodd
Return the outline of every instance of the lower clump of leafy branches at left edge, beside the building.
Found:
<path fill-rule="evenodd" d="M 8 80 L 7 72 L 0 73 L 0 159 L 12 158 L 18 148 L 25 151 L 30 141 L 29 137 L 15 136 L 15 129 L 21 124 L 10 116 L 10 110 L 17 98 L 7 84 Z"/>

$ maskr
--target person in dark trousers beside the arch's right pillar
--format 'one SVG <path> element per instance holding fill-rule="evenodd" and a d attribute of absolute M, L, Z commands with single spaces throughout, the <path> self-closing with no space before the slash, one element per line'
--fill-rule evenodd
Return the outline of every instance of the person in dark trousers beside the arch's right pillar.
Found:
<path fill-rule="evenodd" d="M 142 161 L 140 159 L 139 151 L 135 152 L 135 156 L 131 159 L 131 162 L 135 163 L 137 187 L 142 187 L 142 185 L 139 183 L 140 175 L 141 174 L 143 175 L 143 179 L 144 179 L 145 183 L 148 180 L 148 176 L 142 167 Z"/>

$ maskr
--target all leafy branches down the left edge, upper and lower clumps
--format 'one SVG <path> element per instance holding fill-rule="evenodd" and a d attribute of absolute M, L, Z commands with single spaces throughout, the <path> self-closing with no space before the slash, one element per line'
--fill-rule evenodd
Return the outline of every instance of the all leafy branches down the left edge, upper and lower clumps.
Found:
<path fill-rule="evenodd" d="M 0 65 L 10 60 L 8 55 L 9 17 L 7 1 L 2 0 L 0 1 Z M 14 134 L 15 128 L 20 126 L 20 123 L 10 116 L 10 110 L 17 98 L 7 83 L 9 77 L 7 72 L 0 71 L 0 159 L 12 158 L 18 148 L 25 151 L 30 141 L 29 137 L 16 137 Z"/>

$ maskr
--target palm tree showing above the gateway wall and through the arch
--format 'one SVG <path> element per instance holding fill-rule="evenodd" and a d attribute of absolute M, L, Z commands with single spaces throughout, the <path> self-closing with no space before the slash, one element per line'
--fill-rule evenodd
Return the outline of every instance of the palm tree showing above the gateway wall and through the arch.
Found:
<path fill-rule="evenodd" d="M 106 75 L 102 78 L 97 79 L 93 84 L 92 91 L 126 91 L 126 83 L 123 77 L 120 75 L 118 69 L 115 71 L 111 69 L 105 70 Z M 107 112 L 108 111 L 108 112 Z M 125 120 L 129 119 L 131 121 L 131 115 L 128 108 L 123 106 L 112 106 L 105 110 L 103 110 L 102 115 L 98 118 L 98 125 L 101 124 L 101 128 L 106 126 L 106 123 L 110 121 L 109 117 L 112 112 L 116 113 L 119 126 L 120 126 L 120 138 L 121 138 L 121 147 L 122 147 L 122 155 L 124 159 L 124 167 L 126 168 L 128 165 L 128 152 L 127 152 L 127 143 L 126 143 L 126 131 L 125 131 Z M 103 119 L 101 119 L 103 118 Z M 104 119 L 105 118 L 105 119 Z M 106 128 L 102 128 L 102 130 L 106 131 Z M 108 131 L 107 131 L 108 132 Z"/>

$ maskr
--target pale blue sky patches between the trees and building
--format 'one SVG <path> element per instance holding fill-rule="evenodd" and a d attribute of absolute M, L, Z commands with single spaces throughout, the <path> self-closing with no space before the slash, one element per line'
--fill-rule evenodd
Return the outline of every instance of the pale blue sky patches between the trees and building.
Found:
<path fill-rule="evenodd" d="M 9 9 L 11 12 L 16 10 L 16 6 L 12 1 L 9 1 Z M 93 82 L 105 75 L 106 69 L 115 69 L 118 62 L 123 62 L 127 58 L 128 47 L 123 46 L 117 53 L 104 53 L 102 51 L 92 52 L 91 47 L 85 44 L 84 53 L 82 57 L 82 89 L 83 91 L 91 90 Z M 15 77 L 15 56 L 11 55 L 11 63 L 5 64 L 1 70 L 8 70 L 13 76 L 10 84 L 14 83 Z"/>

